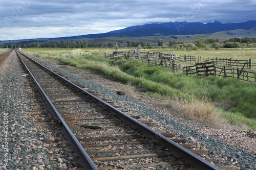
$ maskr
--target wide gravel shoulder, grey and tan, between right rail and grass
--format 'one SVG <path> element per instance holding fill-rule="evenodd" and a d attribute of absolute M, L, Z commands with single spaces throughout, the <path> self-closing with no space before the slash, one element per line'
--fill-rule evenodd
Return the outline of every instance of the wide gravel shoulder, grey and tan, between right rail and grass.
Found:
<path fill-rule="evenodd" d="M 206 148 L 208 158 L 218 157 L 222 165 L 233 164 L 241 169 L 256 169 L 255 131 L 231 125 L 224 125 L 222 128 L 208 127 L 195 119 L 177 116 L 174 110 L 163 107 L 164 99 L 152 99 L 141 87 L 132 86 L 132 90 L 127 90 L 127 84 L 97 71 L 71 68 L 48 59 L 44 61 L 62 76 L 76 81 L 87 90 L 101 93 L 103 98 L 122 105 L 130 112 L 138 112 L 140 116 L 151 119 L 160 127 L 195 144 L 197 149 Z M 116 91 L 124 91 L 128 95 L 131 92 L 132 98 L 118 95 Z"/>

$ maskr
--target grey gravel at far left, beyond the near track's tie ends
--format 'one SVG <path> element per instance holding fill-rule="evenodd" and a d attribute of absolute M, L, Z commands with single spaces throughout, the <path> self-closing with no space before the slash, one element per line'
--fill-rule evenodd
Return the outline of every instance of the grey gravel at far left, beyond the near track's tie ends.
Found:
<path fill-rule="evenodd" d="M 59 131 L 42 133 L 43 131 L 34 126 L 33 120 L 38 120 L 38 116 L 29 114 L 35 112 L 34 103 L 28 98 L 28 87 L 24 84 L 24 77 L 27 75 L 18 63 L 13 52 L 2 63 L 0 69 L 0 169 L 75 169 L 70 162 L 73 158 L 67 160 L 66 156 L 70 154 L 68 150 L 61 148 L 63 151 L 59 152 L 57 149 L 48 149 L 47 143 L 43 143 L 46 136 L 48 139 L 58 136 L 61 144 L 65 144 Z M 3 128 L 5 126 L 6 129 Z M 59 154 L 50 155 L 49 151 L 56 151 Z M 70 166 L 67 167 L 67 164 Z"/>

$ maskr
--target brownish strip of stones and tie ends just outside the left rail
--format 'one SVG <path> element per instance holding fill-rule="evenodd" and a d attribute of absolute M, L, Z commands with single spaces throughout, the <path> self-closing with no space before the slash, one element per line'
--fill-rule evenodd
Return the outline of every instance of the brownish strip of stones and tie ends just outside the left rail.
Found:
<path fill-rule="evenodd" d="M 21 65 L 21 68 L 24 67 Z M 80 167 L 77 155 L 70 148 L 65 137 L 63 137 L 59 126 L 56 124 L 56 121 L 54 121 L 50 110 L 42 100 L 40 93 L 34 86 L 32 80 L 28 77 L 25 68 L 23 69 L 22 75 L 28 99 L 30 101 L 29 107 L 32 110 L 31 112 L 27 112 L 27 114 L 32 115 L 33 118 L 31 119 L 31 122 L 41 136 L 41 147 L 46 148 L 46 152 L 42 153 L 42 155 L 45 155 L 45 157 L 48 158 L 50 157 L 49 163 L 52 164 L 52 166 L 48 165 L 48 167 L 45 167 L 44 165 L 41 165 L 41 167 L 55 167 L 57 169 L 73 169 L 75 167 Z"/>

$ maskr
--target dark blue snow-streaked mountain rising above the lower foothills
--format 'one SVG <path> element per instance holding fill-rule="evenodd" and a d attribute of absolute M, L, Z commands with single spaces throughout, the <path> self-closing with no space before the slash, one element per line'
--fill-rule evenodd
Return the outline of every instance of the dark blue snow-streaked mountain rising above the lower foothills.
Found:
<path fill-rule="evenodd" d="M 221 23 L 213 20 L 208 23 L 201 22 L 164 22 L 147 23 L 144 25 L 127 27 L 125 29 L 108 32 L 119 34 L 120 36 L 154 36 L 154 35 L 195 35 L 211 34 L 215 32 L 244 29 L 249 30 L 256 27 L 255 20 L 249 20 L 241 23 Z"/>

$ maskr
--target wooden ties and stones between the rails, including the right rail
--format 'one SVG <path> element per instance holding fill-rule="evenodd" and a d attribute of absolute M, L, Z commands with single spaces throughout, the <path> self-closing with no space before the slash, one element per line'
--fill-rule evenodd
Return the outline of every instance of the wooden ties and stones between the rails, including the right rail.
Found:
<path fill-rule="evenodd" d="M 35 62 L 29 60 L 23 54 L 17 52 L 17 55 L 32 72 L 36 81 L 45 91 L 58 113 L 67 122 L 82 147 L 86 148 L 86 151 L 92 151 L 89 152 L 89 155 L 98 167 L 108 168 L 110 166 L 110 168 L 113 168 L 113 166 L 120 164 L 118 163 L 120 160 L 138 159 L 136 162 L 141 162 L 141 165 L 136 164 L 134 168 L 145 166 L 145 164 L 147 164 L 147 167 L 152 167 L 156 166 L 156 163 L 160 167 L 166 163 L 168 165 L 181 164 L 184 166 L 188 165 L 187 161 L 190 161 L 189 163 L 197 166 L 197 168 L 219 169 L 176 144 L 173 140 L 106 104 L 91 93 L 76 86 L 70 87 L 68 85 L 71 84 L 70 82 L 61 80 L 46 68 L 42 71 L 41 66 L 36 65 Z M 67 101 L 75 101 L 76 104 L 66 105 L 65 102 Z M 82 121 L 80 121 L 81 119 Z M 120 134 L 119 132 L 125 133 Z M 88 134 L 93 134 L 93 136 L 89 137 Z M 104 134 L 104 136 L 95 137 L 95 134 Z M 162 142 L 158 140 L 162 140 Z M 100 145 L 99 148 L 98 145 Z M 166 149 L 167 147 L 168 149 Z M 95 152 L 95 150 L 99 150 L 99 152 Z M 110 153 L 110 151 L 113 151 L 113 153 Z M 140 151 L 139 154 L 138 151 Z M 84 157 L 88 157 L 88 154 L 86 153 Z M 186 162 L 180 161 L 177 157 L 184 157 Z M 154 160 L 152 161 L 153 164 L 142 161 L 147 159 Z M 113 164 L 113 161 L 117 161 L 117 163 Z M 83 166 L 96 168 L 96 166 L 93 167 L 90 160 L 84 163 Z M 123 168 L 131 168 L 131 166 L 124 166 Z"/>

